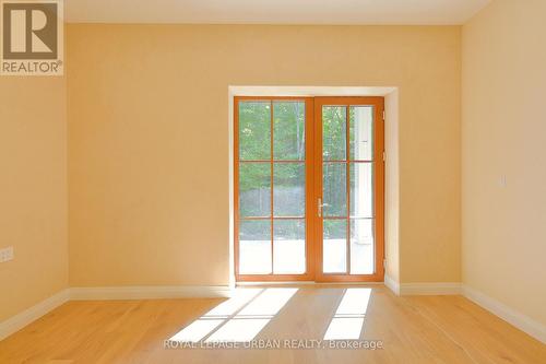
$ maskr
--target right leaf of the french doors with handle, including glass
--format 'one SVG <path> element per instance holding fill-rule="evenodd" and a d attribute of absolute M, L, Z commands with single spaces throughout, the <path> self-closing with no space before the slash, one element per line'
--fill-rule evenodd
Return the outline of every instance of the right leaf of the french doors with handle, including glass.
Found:
<path fill-rule="evenodd" d="M 314 98 L 316 280 L 383 280 L 383 98 Z"/>

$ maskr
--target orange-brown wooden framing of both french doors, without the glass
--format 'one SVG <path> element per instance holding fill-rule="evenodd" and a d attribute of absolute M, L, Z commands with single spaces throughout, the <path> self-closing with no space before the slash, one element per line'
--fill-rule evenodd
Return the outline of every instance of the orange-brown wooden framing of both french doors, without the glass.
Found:
<path fill-rule="evenodd" d="M 306 133 L 306 272 L 304 274 L 239 274 L 239 102 L 240 101 L 304 101 Z M 373 106 L 373 166 L 375 166 L 375 256 L 373 274 L 324 274 L 322 267 L 322 219 L 318 216 L 318 198 L 322 198 L 322 106 Z M 384 274 L 384 98 L 376 96 L 234 96 L 234 272 L 237 282 L 382 282 Z M 271 141 L 273 141 L 273 107 L 271 107 Z M 348 120 L 347 120 L 348 133 Z M 270 163 L 273 166 L 273 142 Z M 348 149 L 347 149 L 348 152 Z M 271 175 L 273 180 L 273 174 Z M 273 189 L 272 189 L 273 191 Z M 273 193 L 273 192 L 272 192 Z M 348 193 L 348 190 L 347 190 Z M 347 200 L 348 202 L 348 200 Z M 273 209 L 273 196 L 271 201 Z M 272 214 L 273 215 L 273 214 Z M 273 216 L 270 218 L 271 221 Z M 273 230 L 272 230 L 273 236 Z M 273 249 L 273 240 L 272 240 Z M 272 256 L 273 259 L 273 256 Z M 272 266 L 273 269 L 273 266 Z"/>

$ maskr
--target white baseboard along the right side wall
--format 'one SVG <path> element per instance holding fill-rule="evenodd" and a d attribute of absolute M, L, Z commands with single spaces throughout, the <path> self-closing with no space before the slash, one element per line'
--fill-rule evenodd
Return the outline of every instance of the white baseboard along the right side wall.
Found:
<path fill-rule="evenodd" d="M 535 321 L 531 317 L 521 314 L 520 312 L 505 305 L 500 301 L 497 301 L 466 284 L 462 285 L 462 294 L 491 314 L 497 315 L 505 321 L 515 326 L 518 329 L 546 344 L 546 326 L 543 324 Z"/>

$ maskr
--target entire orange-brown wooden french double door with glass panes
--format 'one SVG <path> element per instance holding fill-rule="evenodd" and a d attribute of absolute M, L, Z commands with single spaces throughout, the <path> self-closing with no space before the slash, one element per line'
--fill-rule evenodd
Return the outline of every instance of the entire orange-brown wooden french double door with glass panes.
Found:
<path fill-rule="evenodd" d="M 382 281 L 383 99 L 234 104 L 237 281 Z"/>

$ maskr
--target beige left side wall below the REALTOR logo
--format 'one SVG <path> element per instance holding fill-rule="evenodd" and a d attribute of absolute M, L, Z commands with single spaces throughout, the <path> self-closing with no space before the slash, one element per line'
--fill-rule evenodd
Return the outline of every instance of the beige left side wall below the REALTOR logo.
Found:
<path fill-rule="evenodd" d="M 0 77 L 0 321 L 68 285 L 66 80 Z"/>

